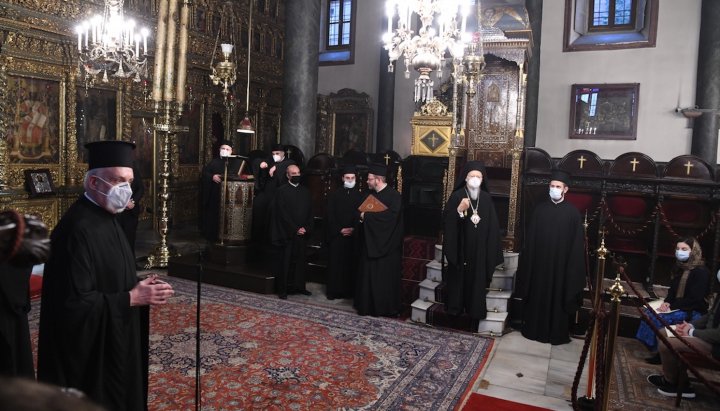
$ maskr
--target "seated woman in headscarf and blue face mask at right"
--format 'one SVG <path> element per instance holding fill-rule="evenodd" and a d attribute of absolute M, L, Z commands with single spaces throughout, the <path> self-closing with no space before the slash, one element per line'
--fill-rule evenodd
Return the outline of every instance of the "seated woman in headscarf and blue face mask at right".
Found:
<path fill-rule="evenodd" d="M 710 294 L 710 271 L 705 267 L 700 243 L 694 237 L 681 238 L 675 247 L 675 258 L 677 262 L 670 280 L 670 289 L 665 302 L 657 309 L 668 324 L 689 322 L 705 314 L 708 308 L 705 297 Z M 651 313 L 647 314 L 655 327 L 662 330 L 660 321 Z M 653 353 L 645 361 L 649 364 L 660 364 L 657 338 L 648 323 L 640 323 L 635 338 Z"/>

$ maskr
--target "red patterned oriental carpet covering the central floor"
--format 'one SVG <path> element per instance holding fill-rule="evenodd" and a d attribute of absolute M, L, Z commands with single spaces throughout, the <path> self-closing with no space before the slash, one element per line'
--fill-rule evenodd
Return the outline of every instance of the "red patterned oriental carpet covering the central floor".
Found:
<path fill-rule="evenodd" d="M 194 409 L 196 284 L 151 310 L 151 410 Z M 203 410 L 447 410 L 492 340 L 203 284 Z"/>

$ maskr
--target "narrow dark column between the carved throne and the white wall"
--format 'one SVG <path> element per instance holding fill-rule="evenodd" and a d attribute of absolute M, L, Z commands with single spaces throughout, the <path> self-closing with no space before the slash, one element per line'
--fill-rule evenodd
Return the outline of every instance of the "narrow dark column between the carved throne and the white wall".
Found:
<path fill-rule="evenodd" d="M 542 29 L 543 0 L 525 0 L 525 8 L 533 33 L 532 56 L 528 60 L 527 90 L 525 94 L 525 147 L 535 147 L 537 108 L 540 88 L 540 31 Z"/>

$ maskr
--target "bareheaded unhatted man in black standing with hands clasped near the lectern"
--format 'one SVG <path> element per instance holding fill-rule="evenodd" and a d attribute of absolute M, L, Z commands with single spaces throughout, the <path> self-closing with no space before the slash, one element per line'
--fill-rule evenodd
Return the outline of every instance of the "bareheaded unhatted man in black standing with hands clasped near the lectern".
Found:
<path fill-rule="evenodd" d="M 300 168 L 287 168 L 288 184 L 278 188 L 270 217 L 275 288 L 282 299 L 288 294 L 311 295 L 305 288 L 307 238 L 313 229 L 310 190 L 300 185 Z"/>

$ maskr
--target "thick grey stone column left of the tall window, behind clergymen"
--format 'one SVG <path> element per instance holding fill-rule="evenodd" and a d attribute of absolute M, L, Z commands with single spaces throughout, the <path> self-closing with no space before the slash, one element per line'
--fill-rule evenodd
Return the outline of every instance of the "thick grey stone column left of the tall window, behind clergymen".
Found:
<path fill-rule="evenodd" d="M 285 62 L 280 142 L 315 154 L 315 122 L 320 48 L 320 2 L 285 2 Z"/>

